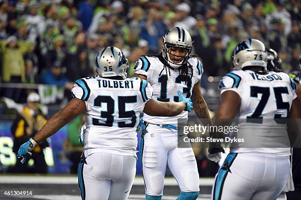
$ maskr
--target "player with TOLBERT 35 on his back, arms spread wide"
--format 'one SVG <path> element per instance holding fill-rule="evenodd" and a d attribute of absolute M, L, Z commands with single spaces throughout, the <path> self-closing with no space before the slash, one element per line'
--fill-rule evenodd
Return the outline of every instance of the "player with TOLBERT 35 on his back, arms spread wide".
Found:
<path fill-rule="evenodd" d="M 140 113 L 175 116 L 190 111 L 192 104 L 181 92 L 178 103 L 157 101 L 145 80 L 126 79 L 127 59 L 116 47 L 99 52 L 95 64 L 99 77 L 77 80 L 74 98 L 21 145 L 18 156 L 24 162 L 37 143 L 86 111 L 85 146 L 78 167 L 82 200 L 126 200 L 136 172 L 135 127 Z"/>

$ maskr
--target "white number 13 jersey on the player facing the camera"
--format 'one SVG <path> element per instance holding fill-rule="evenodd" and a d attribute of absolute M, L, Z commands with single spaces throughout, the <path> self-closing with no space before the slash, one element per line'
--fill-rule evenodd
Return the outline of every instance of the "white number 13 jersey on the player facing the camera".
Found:
<path fill-rule="evenodd" d="M 155 99 L 162 102 L 178 102 L 178 90 L 181 91 L 184 97 L 190 97 L 193 86 L 201 79 L 203 73 L 202 63 L 196 57 L 189 57 L 187 62 L 188 66 L 191 65 L 191 68 L 188 70 L 188 76 L 192 77 L 187 83 L 181 81 L 178 69 L 164 68 L 164 58 L 161 55 L 142 56 L 137 60 L 134 70 L 136 74 L 142 74 L 147 77 Z M 177 125 L 178 118 L 188 118 L 188 112 L 183 111 L 177 116 L 169 117 L 143 115 L 143 120 L 154 124 Z"/>

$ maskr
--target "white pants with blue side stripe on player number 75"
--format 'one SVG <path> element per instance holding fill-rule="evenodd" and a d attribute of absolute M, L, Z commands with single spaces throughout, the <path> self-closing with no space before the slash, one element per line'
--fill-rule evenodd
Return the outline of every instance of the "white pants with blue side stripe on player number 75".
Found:
<path fill-rule="evenodd" d="M 215 176 L 212 200 L 276 200 L 290 168 L 288 156 L 229 153 Z"/>

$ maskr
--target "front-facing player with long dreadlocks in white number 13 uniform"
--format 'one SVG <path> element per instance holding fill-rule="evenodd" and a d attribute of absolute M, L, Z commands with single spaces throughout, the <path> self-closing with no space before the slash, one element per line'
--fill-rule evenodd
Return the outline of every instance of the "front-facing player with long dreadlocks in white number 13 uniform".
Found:
<path fill-rule="evenodd" d="M 199 118 L 210 118 L 201 93 L 202 63 L 191 57 L 192 40 L 180 27 L 169 29 L 163 36 L 162 53 L 142 56 L 135 64 L 134 76 L 147 80 L 153 96 L 161 102 L 178 102 L 178 90 L 191 96 Z M 192 95 L 191 95 L 192 94 Z M 187 118 L 183 111 L 174 117 L 143 116 L 146 134 L 140 140 L 142 171 L 147 200 L 161 200 L 164 175 L 168 165 L 180 187 L 177 200 L 195 200 L 199 195 L 199 173 L 192 148 L 178 148 L 178 119 Z"/>

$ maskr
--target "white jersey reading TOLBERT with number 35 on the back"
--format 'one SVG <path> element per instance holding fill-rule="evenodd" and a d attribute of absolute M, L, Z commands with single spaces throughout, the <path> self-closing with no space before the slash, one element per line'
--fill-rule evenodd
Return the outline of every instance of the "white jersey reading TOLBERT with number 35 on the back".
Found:
<path fill-rule="evenodd" d="M 72 95 L 86 103 L 85 152 L 136 156 L 136 126 L 152 88 L 145 80 L 79 79 Z M 87 155 L 87 154 L 86 154 Z"/>

